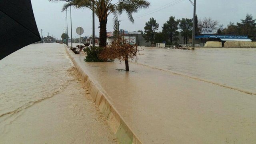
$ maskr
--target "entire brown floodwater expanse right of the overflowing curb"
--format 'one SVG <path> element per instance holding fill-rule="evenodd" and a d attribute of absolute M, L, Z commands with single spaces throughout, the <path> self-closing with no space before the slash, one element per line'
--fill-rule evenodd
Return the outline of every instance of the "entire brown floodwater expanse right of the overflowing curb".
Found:
<path fill-rule="evenodd" d="M 130 72 L 121 70 L 124 62 L 71 56 L 142 143 L 254 144 L 256 96 L 243 92 L 255 92 L 251 53 L 255 49 L 145 48 Z"/>

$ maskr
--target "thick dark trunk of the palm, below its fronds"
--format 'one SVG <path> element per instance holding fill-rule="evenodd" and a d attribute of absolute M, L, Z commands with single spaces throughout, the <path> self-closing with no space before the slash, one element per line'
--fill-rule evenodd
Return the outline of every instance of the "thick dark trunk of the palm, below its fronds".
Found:
<path fill-rule="evenodd" d="M 100 19 L 100 47 L 105 47 L 107 42 L 107 18 L 106 20 Z"/>

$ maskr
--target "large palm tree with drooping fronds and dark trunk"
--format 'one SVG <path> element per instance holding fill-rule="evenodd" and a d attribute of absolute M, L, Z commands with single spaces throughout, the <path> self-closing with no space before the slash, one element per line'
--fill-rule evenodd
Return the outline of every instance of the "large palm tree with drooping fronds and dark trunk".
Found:
<path fill-rule="evenodd" d="M 49 0 L 49 1 L 59 1 L 67 2 L 62 8 L 62 12 L 66 10 L 69 6 L 75 6 L 79 8 L 89 8 L 94 10 L 95 14 L 99 18 L 100 22 L 100 47 L 106 46 L 107 40 L 107 22 L 108 16 L 114 14 L 113 23 L 114 30 L 117 32 L 117 21 L 118 15 L 121 15 L 123 12 L 128 14 L 128 19 L 130 22 L 134 22 L 132 16 L 133 13 L 138 12 L 140 9 L 148 8 L 150 2 L 146 0 L 118 0 L 114 3 L 113 0 Z"/>

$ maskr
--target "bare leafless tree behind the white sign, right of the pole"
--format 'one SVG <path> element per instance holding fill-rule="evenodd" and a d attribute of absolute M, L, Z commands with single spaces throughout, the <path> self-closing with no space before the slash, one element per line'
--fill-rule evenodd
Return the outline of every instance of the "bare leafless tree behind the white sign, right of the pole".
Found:
<path fill-rule="evenodd" d="M 217 20 L 213 20 L 212 18 L 204 18 L 203 20 L 198 21 L 198 28 L 202 30 L 202 28 L 212 28 L 215 31 L 218 29 L 219 22 Z"/>

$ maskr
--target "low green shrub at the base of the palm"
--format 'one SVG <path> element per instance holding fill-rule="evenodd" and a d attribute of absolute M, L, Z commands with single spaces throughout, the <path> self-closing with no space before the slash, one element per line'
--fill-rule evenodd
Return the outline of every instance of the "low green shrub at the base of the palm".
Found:
<path fill-rule="evenodd" d="M 103 62 L 103 60 L 99 58 L 99 54 L 100 52 L 102 52 L 103 48 L 95 46 L 95 47 L 87 47 L 83 50 L 87 54 L 87 56 L 84 58 L 84 61 Z"/>

